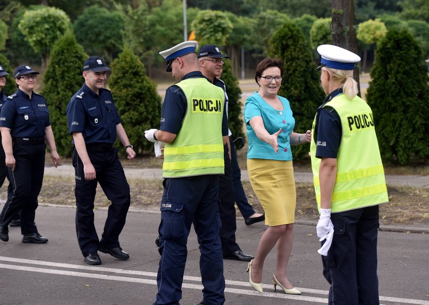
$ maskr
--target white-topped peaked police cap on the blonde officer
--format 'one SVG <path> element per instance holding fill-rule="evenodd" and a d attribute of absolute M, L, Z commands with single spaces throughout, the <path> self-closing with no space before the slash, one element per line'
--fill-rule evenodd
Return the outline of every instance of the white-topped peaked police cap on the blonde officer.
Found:
<path fill-rule="evenodd" d="M 322 57 L 317 67 L 318 70 L 324 66 L 340 70 L 353 70 L 354 64 L 361 61 L 358 55 L 340 48 L 337 45 L 319 45 L 317 47 L 317 53 Z"/>

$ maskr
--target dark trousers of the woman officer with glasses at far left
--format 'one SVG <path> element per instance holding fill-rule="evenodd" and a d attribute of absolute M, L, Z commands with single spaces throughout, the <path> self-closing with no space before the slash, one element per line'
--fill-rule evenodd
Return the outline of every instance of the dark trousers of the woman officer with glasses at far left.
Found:
<path fill-rule="evenodd" d="M 37 233 L 34 223 L 37 209 L 37 197 L 42 188 L 46 144 L 13 144 L 15 171 L 9 168 L 9 177 L 13 187 L 13 196 L 0 222 L 3 226 L 20 213 L 21 233 Z"/>

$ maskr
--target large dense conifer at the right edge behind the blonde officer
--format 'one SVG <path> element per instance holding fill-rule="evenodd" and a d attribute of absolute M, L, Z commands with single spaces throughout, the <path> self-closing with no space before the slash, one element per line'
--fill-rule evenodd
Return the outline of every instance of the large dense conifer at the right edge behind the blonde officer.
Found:
<path fill-rule="evenodd" d="M 383 161 L 411 165 L 429 159 L 429 77 L 420 43 L 407 29 L 380 41 L 367 101 Z"/>

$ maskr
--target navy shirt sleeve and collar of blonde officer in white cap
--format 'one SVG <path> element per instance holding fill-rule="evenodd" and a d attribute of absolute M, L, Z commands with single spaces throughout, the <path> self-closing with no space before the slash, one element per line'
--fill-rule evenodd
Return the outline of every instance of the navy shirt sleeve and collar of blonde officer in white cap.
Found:
<path fill-rule="evenodd" d="M 322 107 L 340 94 L 344 94 L 342 87 L 330 92 L 317 109 L 314 138 L 317 141 L 325 142 L 326 146 L 316 147 L 316 158 L 337 158 L 343 132 L 340 116 L 332 107 Z"/>

